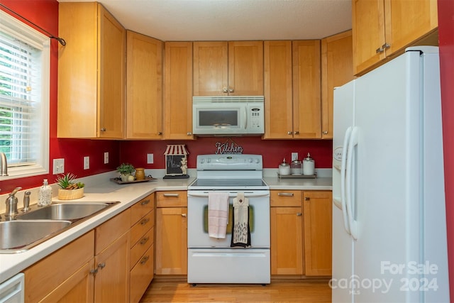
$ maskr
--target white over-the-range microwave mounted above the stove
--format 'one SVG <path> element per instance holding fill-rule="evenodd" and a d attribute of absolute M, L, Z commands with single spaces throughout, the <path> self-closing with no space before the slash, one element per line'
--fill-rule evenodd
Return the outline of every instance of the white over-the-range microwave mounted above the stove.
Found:
<path fill-rule="evenodd" d="M 192 97 L 198 136 L 259 136 L 265 132 L 263 96 Z"/>

